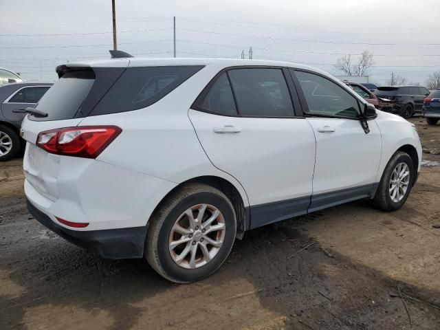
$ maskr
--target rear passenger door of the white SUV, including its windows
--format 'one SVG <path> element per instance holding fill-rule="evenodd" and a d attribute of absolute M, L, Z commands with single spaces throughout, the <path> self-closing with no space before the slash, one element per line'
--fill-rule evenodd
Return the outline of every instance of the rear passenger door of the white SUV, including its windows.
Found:
<path fill-rule="evenodd" d="M 281 68 L 228 69 L 188 112 L 212 164 L 248 194 L 251 228 L 304 214 L 310 203 L 315 137 L 295 115 L 288 83 Z"/>

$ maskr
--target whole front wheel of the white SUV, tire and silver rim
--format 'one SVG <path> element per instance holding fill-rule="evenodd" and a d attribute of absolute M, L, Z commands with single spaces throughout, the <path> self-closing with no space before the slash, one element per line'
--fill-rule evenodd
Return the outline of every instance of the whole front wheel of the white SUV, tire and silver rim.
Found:
<path fill-rule="evenodd" d="M 378 208 L 394 211 L 404 205 L 410 195 L 415 178 L 415 169 L 411 157 L 397 151 L 386 165 L 384 174 L 373 199 Z"/>

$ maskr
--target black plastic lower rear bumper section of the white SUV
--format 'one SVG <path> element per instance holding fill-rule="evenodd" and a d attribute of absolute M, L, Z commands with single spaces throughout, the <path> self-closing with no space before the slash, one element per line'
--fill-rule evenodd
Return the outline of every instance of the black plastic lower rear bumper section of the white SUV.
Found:
<path fill-rule="evenodd" d="M 28 199 L 28 210 L 45 227 L 63 239 L 107 259 L 142 258 L 147 226 L 109 230 L 78 231 L 57 225 L 47 214 L 36 208 Z"/>

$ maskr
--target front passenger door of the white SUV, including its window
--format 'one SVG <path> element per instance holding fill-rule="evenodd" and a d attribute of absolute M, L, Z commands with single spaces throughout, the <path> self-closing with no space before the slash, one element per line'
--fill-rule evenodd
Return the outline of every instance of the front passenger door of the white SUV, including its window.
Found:
<path fill-rule="evenodd" d="M 375 120 L 369 133 L 359 120 L 360 100 L 326 76 L 292 71 L 303 111 L 316 137 L 313 195 L 309 211 L 369 197 L 376 183 L 382 142 Z"/>

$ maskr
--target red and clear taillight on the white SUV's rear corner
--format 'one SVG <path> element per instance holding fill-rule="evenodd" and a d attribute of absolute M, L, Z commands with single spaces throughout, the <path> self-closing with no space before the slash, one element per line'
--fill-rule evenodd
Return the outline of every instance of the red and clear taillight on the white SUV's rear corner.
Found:
<path fill-rule="evenodd" d="M 118 126 L 78 126 L 39 133 L 36 145 L 57 155 L 96 158 L 122 132 Z"/>

